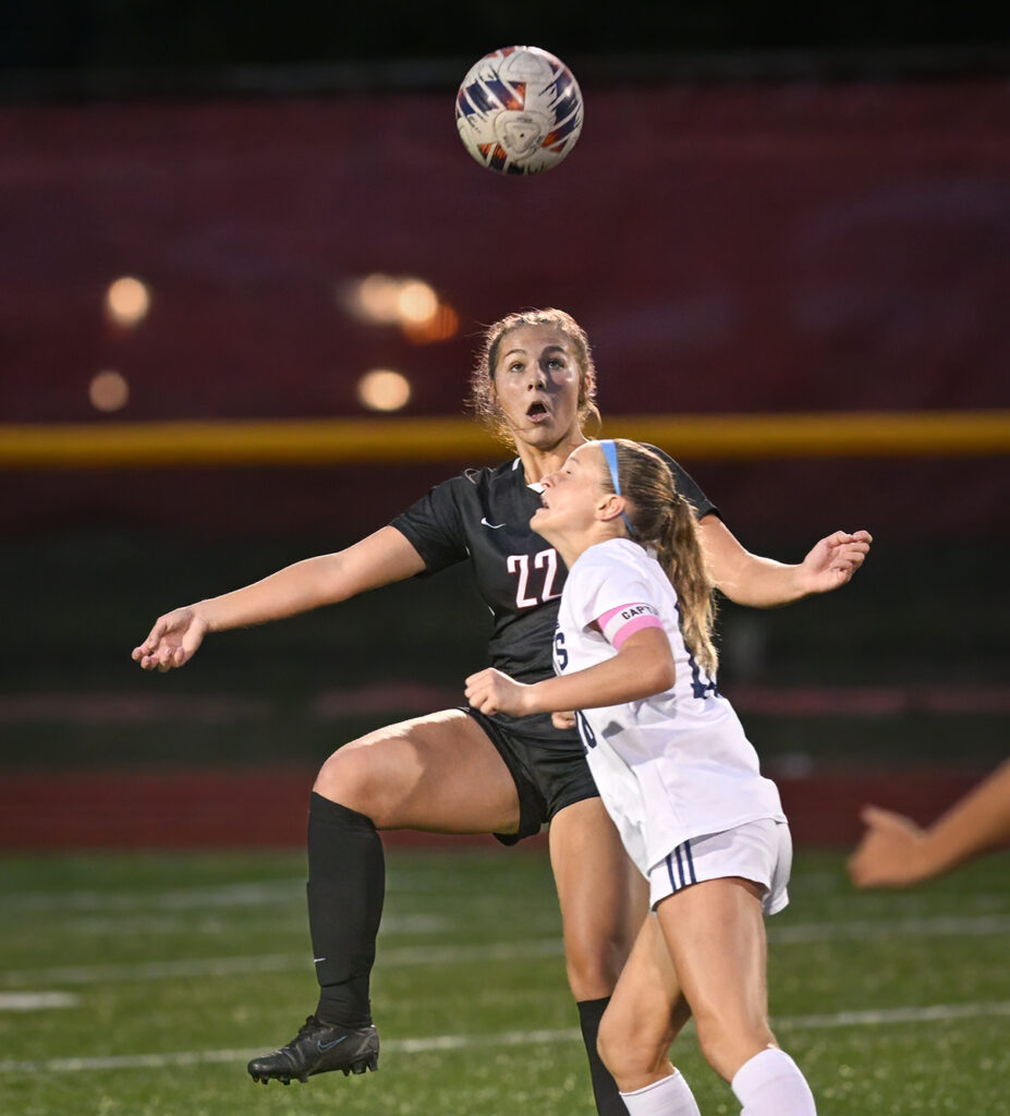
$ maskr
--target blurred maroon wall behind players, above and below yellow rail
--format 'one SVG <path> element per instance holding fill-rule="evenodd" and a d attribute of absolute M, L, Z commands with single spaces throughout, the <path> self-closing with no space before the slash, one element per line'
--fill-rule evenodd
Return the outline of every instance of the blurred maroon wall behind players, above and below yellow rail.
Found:
<path fill-rule="evenodd" d="M 454 414 L 480 325 L 531 305 L 588 329 L 614 433 L 1010 405 L 1006 81 L 584 93 L 578 146 L 529 180 L 469 158 L 451 90 L 0 108 L 0 422 L 354 415 L 376 365 L 406 413 Z M 336 292 L 373 271 L 426 279 L 460 334 L 354 320 Z M 133 331 L 102 311 L 121 275 L 153 291 Z M 751 533 L 1007 527 L 1007 459 L 686 464 Z M 355 533 L 458 468 L 8 473 L 0 527 Z"/>

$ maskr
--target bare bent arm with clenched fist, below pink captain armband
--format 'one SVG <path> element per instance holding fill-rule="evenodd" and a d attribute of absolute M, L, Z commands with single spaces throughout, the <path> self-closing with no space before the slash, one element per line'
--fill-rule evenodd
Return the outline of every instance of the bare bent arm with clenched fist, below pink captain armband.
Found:
<path fill-rule="evenodd" d="M 648 627 L 628 636 L 613 658 L 542 682 L 516 682 L 493 667 L 471 674 L 466 700 L 481 713 L 527 716 L 641 701 L 668 690 L 675 677 L 666 633 Z"/>

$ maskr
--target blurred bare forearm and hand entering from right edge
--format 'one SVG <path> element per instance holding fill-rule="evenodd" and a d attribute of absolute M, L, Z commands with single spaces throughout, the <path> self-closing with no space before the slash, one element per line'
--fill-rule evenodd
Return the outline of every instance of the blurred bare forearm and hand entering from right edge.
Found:
<path fill-rule="evenodd" d="M 877 806 L 863 810 L 866 833 L 848 862 L 857 887 L 903 887 L 1010 845 L 1010 760 L 926 829 Z"/>

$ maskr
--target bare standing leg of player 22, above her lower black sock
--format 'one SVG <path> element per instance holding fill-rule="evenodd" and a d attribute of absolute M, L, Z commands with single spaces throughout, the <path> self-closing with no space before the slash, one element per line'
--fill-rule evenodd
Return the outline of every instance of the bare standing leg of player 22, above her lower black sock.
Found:
<path fill-rule="evenodd" d="M 559 810 L 549 843 L 571 990 L 577 1000 L 609 995 L 645 917 L 647 885 L 599 798 Z"/>

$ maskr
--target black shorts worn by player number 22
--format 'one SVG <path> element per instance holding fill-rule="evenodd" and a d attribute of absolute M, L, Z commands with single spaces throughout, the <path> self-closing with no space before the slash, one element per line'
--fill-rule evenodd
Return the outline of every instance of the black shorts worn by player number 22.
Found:
<path fill-rule="evenodd" d="M 542 826 L 573 802 L 598 798 L 589 773 L 586 750 L 577 737 L 570 742 L 541 743 L 532 737 L 510 732 L 475 709 L 461 706 L 488 734 L 506 762 L 519 793 L 519 830 L 494 834 L 502 845 L 516 845 L 532 837 Z"/>

